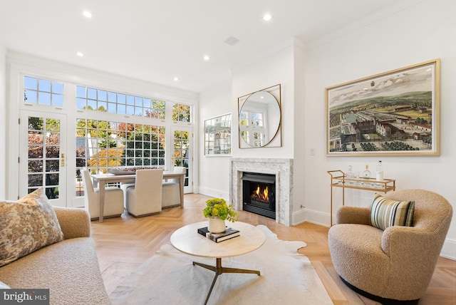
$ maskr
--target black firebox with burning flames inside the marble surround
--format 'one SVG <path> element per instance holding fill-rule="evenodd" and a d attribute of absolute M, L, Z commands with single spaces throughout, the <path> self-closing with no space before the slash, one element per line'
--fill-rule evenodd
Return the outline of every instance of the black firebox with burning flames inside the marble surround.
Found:
<path fill-rule="evenodd" d="M 276 219 L 276 175 L 242 173 L 242 210 Z"/>

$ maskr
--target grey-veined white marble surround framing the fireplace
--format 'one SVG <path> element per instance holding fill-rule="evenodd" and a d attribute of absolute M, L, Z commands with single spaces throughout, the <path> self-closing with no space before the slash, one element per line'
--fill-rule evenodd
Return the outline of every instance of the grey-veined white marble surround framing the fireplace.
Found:
<path fill-rule="evenodd" d="M 232 157 L 229 202 L 242 210 L 242 172 L 276 175 L 276 222 L 290 225 L 293 211 L 293 160 Z"/>

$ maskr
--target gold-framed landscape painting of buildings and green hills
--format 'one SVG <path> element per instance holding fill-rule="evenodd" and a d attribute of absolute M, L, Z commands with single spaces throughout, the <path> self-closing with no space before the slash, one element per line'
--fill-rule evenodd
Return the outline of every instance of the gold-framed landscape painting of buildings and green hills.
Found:
<path fill-rule="evenodd" d="M 440 59 L 326 88 L 326 155 L 440 155 Z"/>

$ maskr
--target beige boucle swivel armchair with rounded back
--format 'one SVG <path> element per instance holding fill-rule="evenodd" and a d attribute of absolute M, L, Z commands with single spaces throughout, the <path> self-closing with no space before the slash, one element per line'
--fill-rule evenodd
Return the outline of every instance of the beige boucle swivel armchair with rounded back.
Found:
<path fill-rule="evenodd" d="M 417 304 L 425 294 L 450 227 L 452 206 L 427 190 L 390 192 L 414 201 L 411 227 L 371 225 L 371 207 L 340 207 L 329 229 L 331 259 L 341 279 L 382 304 Z"/>

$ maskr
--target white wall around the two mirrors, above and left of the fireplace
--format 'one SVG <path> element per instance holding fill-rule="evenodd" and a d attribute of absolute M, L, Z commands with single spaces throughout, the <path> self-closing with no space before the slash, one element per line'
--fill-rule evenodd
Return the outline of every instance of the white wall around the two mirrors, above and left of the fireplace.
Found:
<path fill-rule="evenodd" d="M 232 79 L 199 95 L 199 148 L 204 152 L 204 119 L 232 113 L 232 157 L 292 158 L 294 148 L 294 46 L 289 41 L 266 56 L 232 71 Z M 281 84 L 281 147 L 239 148 L 238 98 Z M 199 193 L 229 198 L 230 157 L 199 154 Z"/>

